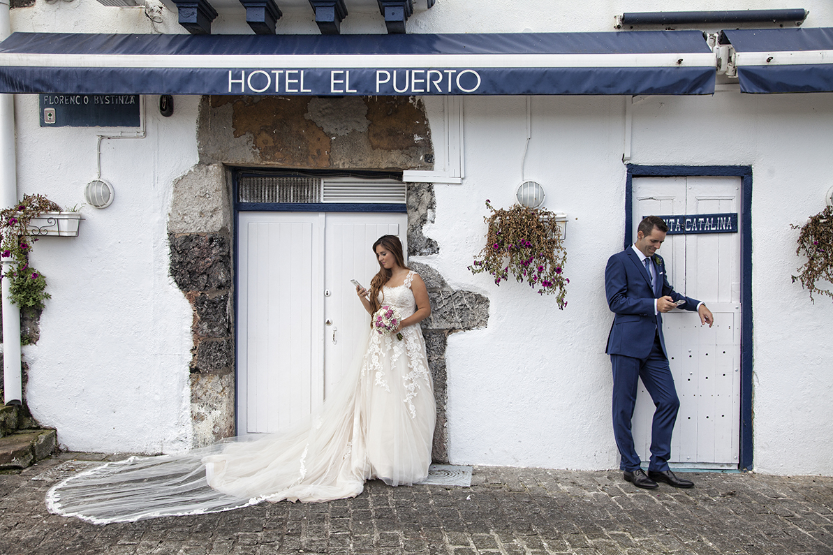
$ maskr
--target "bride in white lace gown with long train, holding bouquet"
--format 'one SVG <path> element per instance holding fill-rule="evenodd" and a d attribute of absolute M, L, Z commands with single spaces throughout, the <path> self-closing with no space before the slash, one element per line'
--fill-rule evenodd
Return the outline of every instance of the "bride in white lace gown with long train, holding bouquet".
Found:
<path fill-rule="evenodd" d="M 373 253 L 379 273 L 369 292 L 357 286 L 356 293 L 368 313 L 395 308 L 402 321 L 390 332 L 369 328 L 337 393 L 317 413 L 286 433 L 93 468 L 52 487 L 49 511 L 96 523 L 132 522 L 264 500 L 351 498 L 372 478 L 391 486 L 425 479 L 436 406 L 417 324 L 431 305 L 396 236 L 379 238 Z"/>

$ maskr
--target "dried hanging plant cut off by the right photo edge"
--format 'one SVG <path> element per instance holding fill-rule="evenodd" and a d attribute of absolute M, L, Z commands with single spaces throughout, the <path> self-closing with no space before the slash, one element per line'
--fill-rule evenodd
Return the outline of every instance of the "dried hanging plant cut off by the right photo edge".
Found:
<path fill-rule="evenodd" d="M 833 291 L 816 287 L 820 281 L 833 283 L 833 207 L 812 216 L 803 226 L 792 228 L 801 229 L 796 254 L 807 257 L 807 262 L 797 268 L 798 275 L 792 277 L 792 283 L 801 282 L 801 287 L 810 291 L 813 303 L 813 293 L 833 298 Z"/>

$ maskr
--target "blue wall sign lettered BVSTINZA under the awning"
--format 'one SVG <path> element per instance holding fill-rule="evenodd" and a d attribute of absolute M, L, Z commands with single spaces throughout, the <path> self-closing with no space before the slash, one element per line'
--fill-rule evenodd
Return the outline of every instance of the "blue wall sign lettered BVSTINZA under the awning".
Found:
<path fill-rule="evenodd" d="M 137 128 L 137 94 L 41 94 L 42 128 Z"/>

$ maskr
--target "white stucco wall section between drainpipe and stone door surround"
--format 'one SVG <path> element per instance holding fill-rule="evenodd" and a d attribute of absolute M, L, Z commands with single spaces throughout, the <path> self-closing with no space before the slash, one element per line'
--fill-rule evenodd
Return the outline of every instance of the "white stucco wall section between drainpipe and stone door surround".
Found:
<path fill-rule="evenodd" d="M 59 442 L 88 451 L 190 445 L 191 309 L 169 276 L 171 183 L 197 160 L 197 98 L 161 117 L 147 97 L 147 137 L 102 141 L 108 208 L 82 207 L 78 238 L 42 238 L 31 262 L 49 283 L 29 364 L 27 402 Z M 17 181 L 64 208 L 96 178 L 100 128 L 39 128 L 37 96 L 16 98 Z"/>

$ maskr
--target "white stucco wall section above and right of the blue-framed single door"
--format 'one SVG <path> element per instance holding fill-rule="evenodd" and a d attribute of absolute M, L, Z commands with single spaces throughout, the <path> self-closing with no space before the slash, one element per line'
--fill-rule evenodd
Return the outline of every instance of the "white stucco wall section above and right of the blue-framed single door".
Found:
<path fill-rule="evenodd" d="M 751 165 L 755 467 L 833 473 L 833 303 L 792 283 L 798 230 L 825 207 L 833 95 L 741 95 L 636 105 L 639 163 Z M 691 148 L 696 145 L 696 148 Z"/>

